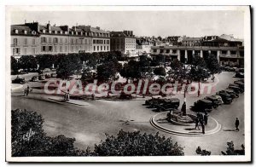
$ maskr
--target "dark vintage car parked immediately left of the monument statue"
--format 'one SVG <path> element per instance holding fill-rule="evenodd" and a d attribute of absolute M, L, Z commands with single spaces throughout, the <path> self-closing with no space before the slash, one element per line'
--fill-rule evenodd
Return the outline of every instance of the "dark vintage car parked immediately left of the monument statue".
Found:
<path fill-rule="evenodd" d="M 177 98 L 165 99 L 160 101 L 160 103 L 156 104 L 156 110 L 158 112 L 161 111 L 169 111 L 172 109 L 177 109 L 179 107 L 180 101 Z"/>

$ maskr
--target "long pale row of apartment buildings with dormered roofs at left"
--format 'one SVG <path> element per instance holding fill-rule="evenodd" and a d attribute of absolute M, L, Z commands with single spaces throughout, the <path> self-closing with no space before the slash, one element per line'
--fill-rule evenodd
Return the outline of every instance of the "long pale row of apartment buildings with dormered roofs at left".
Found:
<path fill-rule="evenodd" d="M 46 26 L 38 22 L 11 26 L 11 55 L 104 52 L 110 50 L 109 32 L 91 26 Z"/>

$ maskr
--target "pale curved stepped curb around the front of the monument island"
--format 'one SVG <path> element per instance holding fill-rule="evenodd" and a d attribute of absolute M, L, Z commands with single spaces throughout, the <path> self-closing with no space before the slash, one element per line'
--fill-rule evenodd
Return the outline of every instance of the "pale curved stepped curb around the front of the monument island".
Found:
<path fill-rule="evenodd" d="M 159 124 L 157 124 L 155 121 L 154 121 L 154 118 L 155 116 L 157 116 L 158 114 L 154 115 L 152 118 L 150 118 L 149 120 L 149 123 L 154 126 L 154 128 L 158 129 L 158 130 L 161 130 L 163 132 L 166 132 L 166 133 L 169 133 L 169 134 L 173 134 L 173 135 L 183 135 L 183 136 L 204 136 L 204 135 L 212 135 L 212 134 L 215 134 L 217 133 L 219 130 L 221 130 L 221 124 L 218 124 L 218 121 L 214 118 L 213 121 L 217 124 L 217 126 L 213 129 L 213 130 L 209 130 L 209 131 L 206 131 L 205 134 L 201 134 L 201 133 L 194 133 L 194 134 L 189 134 L 189 133 L 186 133 L 186 132 L 181 132 L 181 131 L 175 131 L 175 130 L 169 130 L 165 127 L 162 127 L 160 126 Z"/>

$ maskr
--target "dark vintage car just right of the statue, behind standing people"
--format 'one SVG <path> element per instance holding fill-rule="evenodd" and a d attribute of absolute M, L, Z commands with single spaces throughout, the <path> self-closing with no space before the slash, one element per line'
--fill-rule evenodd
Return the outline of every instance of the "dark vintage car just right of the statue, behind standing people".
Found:
<path fill-rule="evenodd" d="M 190 107 L 193 112 L 212 112 L 213 104 L 212 101 L 207 99 L 201 99 L 194 103 L 194 106 Z"/>

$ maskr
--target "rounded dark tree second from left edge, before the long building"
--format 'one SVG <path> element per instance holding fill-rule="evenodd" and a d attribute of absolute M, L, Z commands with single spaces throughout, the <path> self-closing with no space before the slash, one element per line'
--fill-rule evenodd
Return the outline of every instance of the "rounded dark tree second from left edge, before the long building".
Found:
<path fill-rule="evenodd" d="M 19 66 L 22 69 L 27 69 L 28 72 L 38 67 L 37 60 L 33 55 L 22 55 L 19 59 Z"/>

